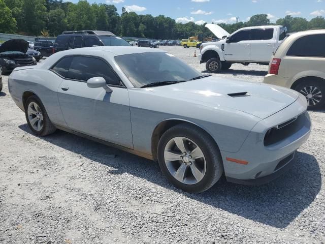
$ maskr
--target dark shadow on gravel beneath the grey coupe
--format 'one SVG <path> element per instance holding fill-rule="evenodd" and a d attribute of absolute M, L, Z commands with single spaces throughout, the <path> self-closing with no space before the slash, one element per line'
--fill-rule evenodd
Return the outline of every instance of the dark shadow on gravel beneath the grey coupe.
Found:
<path fill-rule="evenodd" d="M 32 134 L 27 124 L 19 128 Z M 145 178 L 153 184 L 214 208 L 277 228 L 285 228 L 295 220 L 313 202 L 321 188 L 321 173 L 317 160 L 312 155 L 301 152 L 296 154 L 295 166 L 269 184 L 242 186 L 226 182 L 225 177 L 222 177 L 208 191 L 190 194 L 169 184 L 156 162 L 60 130 L 42 139 L 82 155 L 94 163 L 116 169 L 108 173 L 128 173 Z M 107 160 L 109 155 L 116 155 L 116 158 Z"/>

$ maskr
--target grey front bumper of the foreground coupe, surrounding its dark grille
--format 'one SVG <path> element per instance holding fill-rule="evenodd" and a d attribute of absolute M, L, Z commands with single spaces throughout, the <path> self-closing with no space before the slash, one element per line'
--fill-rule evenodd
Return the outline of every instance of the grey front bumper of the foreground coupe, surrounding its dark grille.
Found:
<path fill-rule="evenodd" d="M 237 153 L 221 151 L 226 178 L 232 182 L 246 185 L 255 182 L 258 185 L 272 180 L 289 168 L 287 165 L 294 163 L 294 152 L 310 135 L 311 121 L 306 108 L 306 99 L 301 95 L 293 104 L 259 121 Z M 270 145 L 265 145 L 264 139 L 269 129 L 298 115 L 300 116 L 299 120 L 297 118 L 297 129 L 293 130 L 293 133 L 289 133 Z M 289 129 L 284 130 L 288 131 Z M 246 165 L 238 164 L 228 161 L 227 158 L 248 163 Z M 259 181 L 261 183 L 258 183 Z"/>

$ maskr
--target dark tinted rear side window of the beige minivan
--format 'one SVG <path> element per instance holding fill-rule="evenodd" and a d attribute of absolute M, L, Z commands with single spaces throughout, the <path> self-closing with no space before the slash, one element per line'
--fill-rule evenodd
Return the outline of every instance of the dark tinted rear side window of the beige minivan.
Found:
<path fill-rule="evenodd" d="M 297 39 L 286 53 L 287 56 L 325 57 L 325 34 L 309 35 Z"/>

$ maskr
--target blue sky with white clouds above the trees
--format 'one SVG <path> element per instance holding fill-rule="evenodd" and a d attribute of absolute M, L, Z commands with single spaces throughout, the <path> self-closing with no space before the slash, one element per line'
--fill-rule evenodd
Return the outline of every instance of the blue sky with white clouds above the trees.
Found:
<path fill-rule="evenodd" d="M 68 1 L 67 1 L 68 2 Z M 69 0 L 77 3 L 78 0 Z M 113 4 L 121 13 L 122 7 L 137 14 L 159 14 L 176 22 L 197 24 L 235 23 L 247 21 L 254 14 L 268 14 L 271 22 L 286 15 L 307 20 L 325 17 L 325 0 L 88 0 L 89 3 Z"/>

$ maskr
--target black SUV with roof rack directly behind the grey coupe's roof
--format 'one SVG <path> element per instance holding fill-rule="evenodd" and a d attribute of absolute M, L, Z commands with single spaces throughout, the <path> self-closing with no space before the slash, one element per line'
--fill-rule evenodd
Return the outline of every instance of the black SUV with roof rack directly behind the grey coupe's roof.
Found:
<path fill-rule="evenodd" d="M 63 32 L 56 37 L 54 52 L 80 47 L 93 46 L 131 46 L 124 39 L 105 31 L 73 31 Z"/>

